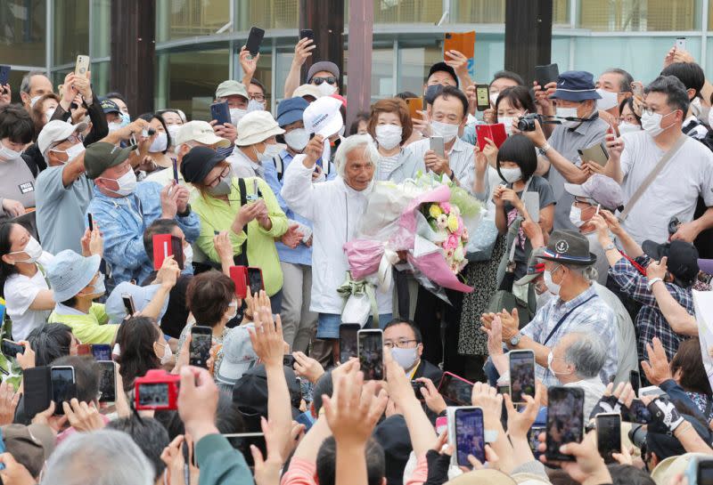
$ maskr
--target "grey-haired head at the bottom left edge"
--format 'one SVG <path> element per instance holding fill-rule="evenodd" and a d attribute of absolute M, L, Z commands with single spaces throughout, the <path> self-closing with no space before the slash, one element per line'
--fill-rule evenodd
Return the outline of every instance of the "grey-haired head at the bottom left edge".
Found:
<path fill-rule="evenodd" d="M 47 462 L 41 485 L 152 485 L 153 465 L 125 432 L 77 432 Z"/>

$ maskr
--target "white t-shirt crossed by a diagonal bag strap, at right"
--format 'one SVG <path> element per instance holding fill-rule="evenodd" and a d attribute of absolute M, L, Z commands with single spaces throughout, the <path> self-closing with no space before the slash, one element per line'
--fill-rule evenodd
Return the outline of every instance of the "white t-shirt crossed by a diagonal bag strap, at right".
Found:
<path fill-rule="evenodd" d="M 621 154 L 624 174 L 624 206 L 665 153 L 646 132 L 626 133 Z M 686 138 L 676 155 L 643 192 L 622 224 L 641 244 L 644 240 L 663 243 L 668 240 L 668 222 L 693 221 L 698 197 L 713 206 L 713 153 L 700 141 Z"/>

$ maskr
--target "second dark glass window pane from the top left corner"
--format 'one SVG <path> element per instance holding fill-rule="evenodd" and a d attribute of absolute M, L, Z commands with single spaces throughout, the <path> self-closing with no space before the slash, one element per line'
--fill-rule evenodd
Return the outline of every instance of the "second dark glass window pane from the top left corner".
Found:
<path fill-rule="evenodd" d="M 53 66 L 89 54 L 89 0 L 55 0 L 53 22 Z"/>

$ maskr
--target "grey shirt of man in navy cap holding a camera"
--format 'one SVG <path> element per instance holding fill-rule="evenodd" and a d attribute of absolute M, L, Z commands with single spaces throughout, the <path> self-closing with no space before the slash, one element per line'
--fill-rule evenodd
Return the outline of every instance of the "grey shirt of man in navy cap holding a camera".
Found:
<path fill-rule="evenodd" d="M 581 166 L 582 160 L 579 158 L 577 150 L 584 150 L 594 145 L 594 143 L 604 141 L 607 128 L 609 128 L 609 125 L 601 117 L 586 121 L 578 125 L 577 128 L 567 128 L 559 125 L 554 128 L 547 142 L 562 157 L 567 158 L 576 166 Z M 570 222 L 570 209 L 574 202 L 574 196 L 564 190 L 564 183 L 567 181 L 554 166 L 550 166 L 547 180 L 550 181 L 550 185 L 554 190 L 554 198 L 557 200 L 557 206 L 554 207 L 553 229 L 577 230 L 574 224 Z"/>

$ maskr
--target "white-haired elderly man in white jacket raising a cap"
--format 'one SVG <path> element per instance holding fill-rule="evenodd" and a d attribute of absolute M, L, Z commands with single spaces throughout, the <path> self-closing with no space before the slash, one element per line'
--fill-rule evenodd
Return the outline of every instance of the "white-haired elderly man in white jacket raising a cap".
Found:
<path fill-rule="evenodd" d="M 281 193 L 294 212 L 314 224 L 310 310 L 319 313 L 317 338 L 333 340 L 337 357 L 345 303 L 337 288 L 344 283 L 348 271 L 342 247 L 355 238 L 365 216 L 379 152 L 369 135 L 350 136 L 341 142 L 334 158 L 338 176 L 313 184 L 312 174 L 323 147 L 324 138 L 320 135 L 309 141 L 305 154 L 295 157 L 287 167 Z M 381 327 L 391 319 L 391 296 L 390 292 L 376 292 Z"/>

